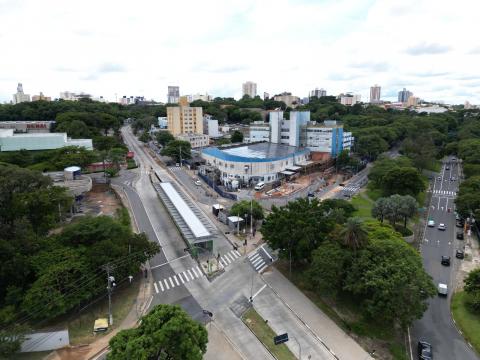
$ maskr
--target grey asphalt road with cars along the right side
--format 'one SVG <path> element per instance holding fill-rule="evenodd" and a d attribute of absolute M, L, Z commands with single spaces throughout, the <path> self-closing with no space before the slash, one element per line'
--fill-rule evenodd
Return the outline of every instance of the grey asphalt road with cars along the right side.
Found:
<path fill-rule="evenodd" d="M 426 271 L 432 276 L 436 286 L 444 283 L 448 286 L 449 294 L 445 297 L 435 296 L 429 301 L 428 310 L 422 319 L 416 321 L 411 329 L 412 359 L 417 359 L 417 344 L 419 340 L 432 344 L 435 360 L 474 360 L 478 356 L 467 345 L 463 337 L 455 328 L 451 314 L 450 301 L 455 288 L 456 272 L 459 262 L 455 258 L 456 249 L 463 248 L 463 240 L 457 240 L 455 235 L 454 199 L 458 191 L 459 164 L 445 160 L 442 170 L 435 174 L 431 181 L 432 199 L 428 208 L 428 219 L 435 221 L 435 227 L 426 227 L 421 244 L 423 264 Z M 450 162 L 450 165 L 447 163 Z M 450 169 L 447 170 L 446 168 Z M 455 177 L 456 181 L 450 178 Z M 450 211 L 449 211 L 450 209 Z M 446 230 L 438 230 L 443 223 Z M 451 266 L 441 265 L 441 257 L 450 256 Z"/>

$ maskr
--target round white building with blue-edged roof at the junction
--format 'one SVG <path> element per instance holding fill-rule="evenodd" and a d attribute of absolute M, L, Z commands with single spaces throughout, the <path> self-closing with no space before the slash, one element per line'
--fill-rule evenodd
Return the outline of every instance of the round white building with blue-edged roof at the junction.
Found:
<path fill-rule="evenodd" d="M 261 142 L 202 150 L 206 164 L 220 171 L 222 183 L 238 180 L 245 185 L 270 183 L 294 175 L 309 163 L 310 150 L 284 144 Z"/>

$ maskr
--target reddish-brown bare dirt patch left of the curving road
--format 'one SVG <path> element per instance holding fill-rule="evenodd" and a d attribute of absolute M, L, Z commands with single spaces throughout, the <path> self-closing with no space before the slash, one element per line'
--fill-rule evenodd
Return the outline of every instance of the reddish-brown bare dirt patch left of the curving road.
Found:
<path fill-rule="evenodd" d="M 108 185 L 95 183 L 92 190 L 85 195 L 81 205 L 84 214 L 93 216 L 114 216 L 121 207 L 120 199 Z"/>

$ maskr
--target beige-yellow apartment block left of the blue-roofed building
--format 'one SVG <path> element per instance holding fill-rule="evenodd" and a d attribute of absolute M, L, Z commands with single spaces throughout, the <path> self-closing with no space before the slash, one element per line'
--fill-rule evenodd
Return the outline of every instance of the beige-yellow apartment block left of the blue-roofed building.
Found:
<path fill-rule="evenodd" d="M 184 96 L 179 100 L 179 106 L 167 107 L 168 131 L 175 137 L 180 134 L 203 134 L 202 107 L 190 107 Z"/>

